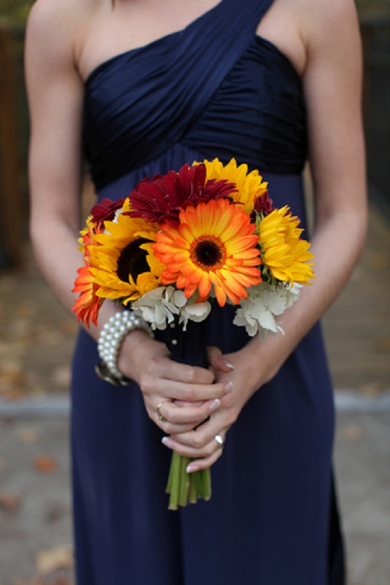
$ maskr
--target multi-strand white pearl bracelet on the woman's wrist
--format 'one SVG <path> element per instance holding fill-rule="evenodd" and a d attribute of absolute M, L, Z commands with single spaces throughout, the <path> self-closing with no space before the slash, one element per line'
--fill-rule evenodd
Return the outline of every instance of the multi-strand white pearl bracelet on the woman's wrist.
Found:
<path fill-rule="evenodd" d="M 102 380 L 115 386 L 126 386 L 131 383 L 132 380 L 118 369 L 118 355 L 124 337 L 134 329 L 142 329 L 154 337 L 151 326 L 142 317 L 134 315 L 132 310 L 119 311 L 110 317 L 102 328 L 97 342 L 97 351 L 102 363 L 95 367 L 97 375 Z"/>

